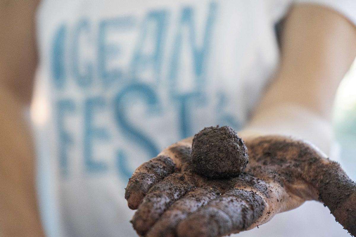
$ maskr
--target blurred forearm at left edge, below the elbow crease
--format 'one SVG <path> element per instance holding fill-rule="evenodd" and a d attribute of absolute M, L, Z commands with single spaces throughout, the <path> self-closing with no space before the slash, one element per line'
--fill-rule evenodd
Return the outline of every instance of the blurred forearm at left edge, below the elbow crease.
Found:
<path fill-rule="evenodd" d="M 0 236 L 44 236 L 35 186 L 35 155 L 23 104 L 0 87 Z"/>

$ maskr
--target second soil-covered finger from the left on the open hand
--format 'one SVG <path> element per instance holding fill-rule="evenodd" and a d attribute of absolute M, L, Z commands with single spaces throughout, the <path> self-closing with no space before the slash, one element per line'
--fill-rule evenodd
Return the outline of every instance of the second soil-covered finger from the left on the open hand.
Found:
<path fill-rule="evenodd" d="M 193 189 L 191 177 L 173 173 L 154 185 L 143 198 L 132 218 L 133 228 L 141 236 L 145 235 L 162 213 L 176 200 Z"/>

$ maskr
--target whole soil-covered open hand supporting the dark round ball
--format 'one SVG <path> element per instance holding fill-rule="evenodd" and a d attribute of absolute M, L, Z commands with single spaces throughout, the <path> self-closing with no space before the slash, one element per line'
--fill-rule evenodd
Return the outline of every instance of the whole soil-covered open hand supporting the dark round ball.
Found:
<path fill-rule="evenodd" d="M 338 163 L 302 140 L 272 135 L 244 140 L 248 162 L 237 162 L 241 170 L 231 163 L 234 156 L 201 170 L 192 159 L 193 138 L 138 167 L 125 193 L 129 207 L 137 209 L 132 218 L 136 232 L 146 237 L 225 236 L 262 225 L 306 200 L 318 200 L 356 235 L 356 184 Z M 209 142 L 211 149 L 222 151 L 221 140 Z M 217 170 L 223 171 L 220 177 Z"/>

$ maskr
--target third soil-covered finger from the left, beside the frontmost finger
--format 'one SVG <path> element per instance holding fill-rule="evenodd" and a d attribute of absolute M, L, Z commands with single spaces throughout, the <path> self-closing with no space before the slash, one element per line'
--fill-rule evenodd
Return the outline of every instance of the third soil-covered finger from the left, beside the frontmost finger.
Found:
<path fill-rule="evenodd" d="M 173 203 L 153 225 L 147 237 L 175 237 L 178 223 L 187 216 L 220 197 L 220 192 L 213 188 L 197 188 Z"/>

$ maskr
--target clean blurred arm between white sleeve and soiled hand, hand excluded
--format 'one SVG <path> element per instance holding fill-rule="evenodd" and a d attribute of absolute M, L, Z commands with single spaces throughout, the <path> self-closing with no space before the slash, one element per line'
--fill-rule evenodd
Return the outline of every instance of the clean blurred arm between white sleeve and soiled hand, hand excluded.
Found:
<path fill-rule="evenodd" d="M 278 71 L 246 129 L 297 136 L 329 153 L 336 89 L 355 55 L 354 25 L 325 7 L 294 6 Z"/>

